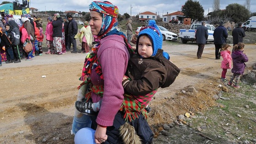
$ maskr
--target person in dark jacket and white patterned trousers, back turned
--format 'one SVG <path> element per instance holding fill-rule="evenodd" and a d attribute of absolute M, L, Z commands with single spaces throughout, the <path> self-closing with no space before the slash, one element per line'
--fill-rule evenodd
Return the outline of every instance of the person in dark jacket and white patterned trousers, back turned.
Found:
<path fill-rule="evenodd" d="M 59 14 L 54 14 L 53 18 L 53 47 L 54 52 L 57 54 L 62 54 L 62 44 L 61 44 L 61 38 L 62 38 L 62 25 L 63 25 L 63 19 L 59 16 Z"/>

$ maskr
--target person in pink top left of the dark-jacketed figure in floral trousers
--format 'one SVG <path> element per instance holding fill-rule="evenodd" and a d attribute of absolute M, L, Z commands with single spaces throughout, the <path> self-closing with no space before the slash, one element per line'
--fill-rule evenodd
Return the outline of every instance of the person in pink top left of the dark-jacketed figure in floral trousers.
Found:
<path fill-rule="evenodd" d="M 48 48 L 48 52 L 46 52 L 45 54 L 50 54 L 51 51 L 52 53 L 54 52 L 54 48 L 53 48 L 53 19 L 51 17 L 48 17 L 47 19 L 48 24 L 46 26 L 46 30 L 45 30 L 45 36 L 46 36 L 46 45 Z"/>

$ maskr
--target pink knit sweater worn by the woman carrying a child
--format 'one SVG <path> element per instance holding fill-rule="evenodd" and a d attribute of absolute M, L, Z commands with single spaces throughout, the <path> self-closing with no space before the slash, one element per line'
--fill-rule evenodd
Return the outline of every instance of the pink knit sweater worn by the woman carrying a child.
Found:
<path fill-rule="evenodd" d="M 104 85 L 104 95 L 96 123 L 102 126 L 112 126 L 114 117 L 123 102 L 122 80 L 130 59 L 123 37 L 110 35 L 101 39 L 97 57 L 100 59 L 104 80 L 101 80 L 92 70 L 91 81 L 94 85 Z M 94 93 L 91 98 L 93 102 L 101 99 Z"/>

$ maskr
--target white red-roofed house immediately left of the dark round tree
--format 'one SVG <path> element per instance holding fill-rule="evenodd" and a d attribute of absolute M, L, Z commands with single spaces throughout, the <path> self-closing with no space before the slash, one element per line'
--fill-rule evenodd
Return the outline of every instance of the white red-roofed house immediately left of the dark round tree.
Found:
<path fill-rule="evenodd" d="M 168 12 L 167 12 L 167 15 L 163 16 L 163 21 L 171 22 L 171 20 L 173 20 L 173 21 L 178 21 L 178 23 L 182 23 L 184 18 L 185 18 L 185 16 L 181 11 L 176 11 L 176 12 L 173 12 L 170 14 L 168 14 Z"/>

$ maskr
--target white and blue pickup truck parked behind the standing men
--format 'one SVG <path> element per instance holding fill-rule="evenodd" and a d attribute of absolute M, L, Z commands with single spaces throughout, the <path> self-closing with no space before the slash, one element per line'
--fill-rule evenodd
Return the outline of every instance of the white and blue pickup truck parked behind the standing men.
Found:
<path fill-rule="evenodd" d="M 197 27 L 201 26 L 201 22 L 193 23 L 190 27 L 190 29 L 180 29 L 179 36 L 181 38 L 182 43 L 187 43 L 187 42 L 195 42 L 196 41 L 196 32 L 197 32 Z M 213 42 L 213 32 L 215 30 L 215 27 L 210 24 L 205 24 L 205 27 L 208 28 L 208 39 L 206 40 L 207 42 Z"/>

